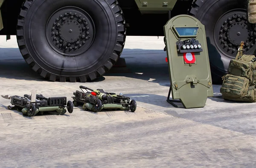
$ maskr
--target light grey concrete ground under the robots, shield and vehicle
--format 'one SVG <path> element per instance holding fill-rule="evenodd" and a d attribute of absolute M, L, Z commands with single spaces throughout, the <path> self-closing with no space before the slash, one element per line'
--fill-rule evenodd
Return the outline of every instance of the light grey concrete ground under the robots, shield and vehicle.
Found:
<path fill-rule="evenodd" d="M 166 101 L 169 71 L 163 37 L 127 37 L 122 58 L 130 73 L 97 81 L 60 83 L 33 72 L 15 36 L 0 38 L 0 95 L 67 96 L 80 85 L 122 92 L 135 113 L 91 113 L 75 107 L 63 116 L 32 118 L 7 110 L 0 97 L 0 167 L 256 167 L 255 103 L 208 98 L 204 108 L 175 108 Z M 214 96 L 220 96 L 214 85 Z"/>

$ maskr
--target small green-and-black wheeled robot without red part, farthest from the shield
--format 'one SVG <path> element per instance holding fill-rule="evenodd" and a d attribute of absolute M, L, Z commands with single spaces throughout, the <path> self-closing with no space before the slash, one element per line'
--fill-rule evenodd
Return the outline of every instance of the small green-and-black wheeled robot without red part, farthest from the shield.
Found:
<path fill-rule="evenodd" d="M 43 115 L 44 112 L 55 115 L 63 115 L 67 111 L 73 113 L 72 101 L 67 101 L 67 97 L 50 97 L 46 98 L 43 95 L 36 95 L 36 101 L 31 101 L 31 96 L 2 96 L 6 99 L 11 99 L 11 104 L 14 107 L 8 106 L 9 110 L 22 111 L 25 116 L 35 116 L 38 113 Z"/>

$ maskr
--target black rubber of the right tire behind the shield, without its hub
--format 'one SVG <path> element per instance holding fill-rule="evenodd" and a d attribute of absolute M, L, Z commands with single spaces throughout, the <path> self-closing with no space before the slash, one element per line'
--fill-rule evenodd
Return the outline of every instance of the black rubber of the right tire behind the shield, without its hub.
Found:
<path fill-rule="evenodd" d="M 195 17 L 205 26 L 207 46 L 212 78 L 215 83 L 221 83 L 221 76 L 227 74 L 231 58 L 222 54 L 214 41 L 214 28 L 218 19 L 232 9 L 246 9 L 247 1 L 244 0 L 204 0 L 198 7 Z"/>

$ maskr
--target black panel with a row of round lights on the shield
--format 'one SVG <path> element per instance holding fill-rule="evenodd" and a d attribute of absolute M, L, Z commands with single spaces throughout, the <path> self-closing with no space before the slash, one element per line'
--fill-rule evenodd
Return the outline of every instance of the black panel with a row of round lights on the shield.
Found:
<path fill-rule="evenodd" d="M 177 52 L 186 53 L 186 52 L 202 52 L 202 46 L 199 41 L 194 38 L 184 41 L 177 41 Z"/>

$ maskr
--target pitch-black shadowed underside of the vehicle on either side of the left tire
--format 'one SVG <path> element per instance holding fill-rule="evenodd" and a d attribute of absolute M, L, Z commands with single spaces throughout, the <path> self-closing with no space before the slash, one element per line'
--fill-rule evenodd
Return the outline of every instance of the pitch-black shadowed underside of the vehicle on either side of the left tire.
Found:
<path fill-rule="evenodd" d="M 192 0 L 178 1 L 171 12 L 172 17 L 178 14 L 187 14 Z M 163 36 L 163 26 L 169 20 L 168 12 L 164 14 L 141 14 L 134 0 L 118 0 L 121 7 L 128 36 Z M 0 35 L 16 35 L 16 25 L 23 0 L 5 0 L 1 7 L 3 30 Z M 182 8 L 181 8 L 182 6 Z M 12 10 L 10 10 L 12 9 Z"/>

